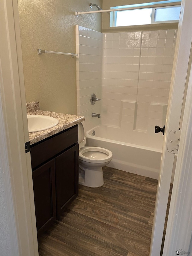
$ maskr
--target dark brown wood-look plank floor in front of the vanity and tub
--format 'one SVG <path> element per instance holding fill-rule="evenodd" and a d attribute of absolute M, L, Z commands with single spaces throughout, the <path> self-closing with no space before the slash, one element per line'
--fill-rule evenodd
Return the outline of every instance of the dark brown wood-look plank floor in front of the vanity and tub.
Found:
<path fill-rule="evenodd" d="M 103 173 L 102 187 L 79 185 L 79 196 L 39 237 L 39 255 L 149 255 L 158 181 L 110 167 Z"/>

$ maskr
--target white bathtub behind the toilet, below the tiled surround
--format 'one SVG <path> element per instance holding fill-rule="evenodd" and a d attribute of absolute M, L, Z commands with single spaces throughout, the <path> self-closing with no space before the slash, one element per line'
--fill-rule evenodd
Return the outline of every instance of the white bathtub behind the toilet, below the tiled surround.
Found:
<path fill-rule="evenodd" d="M 109 149 L 113 153 L 109 167 L 158 179 L 163 136 L 153 137 L 152 134 L 149 139 L 149 135 L 140 131 L 128 134 L 118 127 L 99 125 L 87 131 L 86 146 Z"/>

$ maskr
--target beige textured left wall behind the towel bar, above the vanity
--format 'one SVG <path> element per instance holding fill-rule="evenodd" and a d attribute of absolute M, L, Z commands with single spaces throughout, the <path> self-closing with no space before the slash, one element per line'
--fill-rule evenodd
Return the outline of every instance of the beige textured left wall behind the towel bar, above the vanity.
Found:
<path fill-rule="evenodd" d="M 75 25 L 101 32 L 101 14 L 76 17 L 91 11 L 90 0 L 18 0 L 26 101 L 39 101 L 40 109 L 77 113 L 76 57 L 37 49 L 75 52 Z M 94 0 L 102 7 L 102 0 Z"/>

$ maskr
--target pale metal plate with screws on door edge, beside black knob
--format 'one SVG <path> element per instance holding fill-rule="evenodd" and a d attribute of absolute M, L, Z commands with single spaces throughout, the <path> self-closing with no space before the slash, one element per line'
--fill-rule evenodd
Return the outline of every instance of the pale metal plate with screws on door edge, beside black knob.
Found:
<path fill-rule="evenodd" d="M 169 141 L 167 150 L 172 154 L 177 154 L 179 150 L 179 141 L 180 141 L 181 131 L 172 130 L 169 133 Z"/>

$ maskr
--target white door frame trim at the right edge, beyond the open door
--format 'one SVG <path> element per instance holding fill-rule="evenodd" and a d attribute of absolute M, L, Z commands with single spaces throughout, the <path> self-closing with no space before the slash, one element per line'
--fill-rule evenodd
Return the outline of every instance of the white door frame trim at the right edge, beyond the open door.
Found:
<path fill-rule="evenodd" d="M 171 195 L 163 256 L 176 250 L 192 255 L 192 65 L 190 69 L 183 124 Z M 189 254 L 183 254 L 189 255 Z"/>

